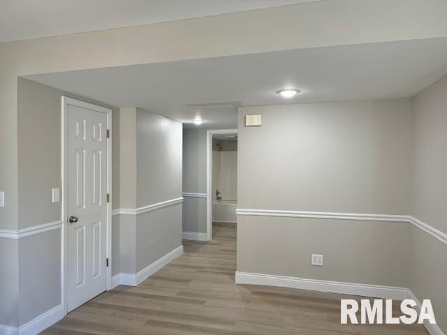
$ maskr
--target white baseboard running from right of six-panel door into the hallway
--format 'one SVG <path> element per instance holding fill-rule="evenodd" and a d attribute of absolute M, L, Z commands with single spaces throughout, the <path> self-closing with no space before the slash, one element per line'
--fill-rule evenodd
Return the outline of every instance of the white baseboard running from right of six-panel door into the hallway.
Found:
<path fill-rule="evenodd" d="M 151 265 L 145 267 L 141 271 L 138 271 L 137 274 L 115 274 L 112 277 L 112 288 L 117 285 L 129 285 L 129 286 L 137 286 L 142 281 L 145 281 L 149 276 L 152 276 L 156 271 L 159 271 L 162 267 L 168 265 L 170 262 L 175 260 L 175 258 L 179 257 L 183 254 L 183 246 L 179 246 L 175 248 L 170 253 L 164 255 L 159 260 L 156 260 Z"/>

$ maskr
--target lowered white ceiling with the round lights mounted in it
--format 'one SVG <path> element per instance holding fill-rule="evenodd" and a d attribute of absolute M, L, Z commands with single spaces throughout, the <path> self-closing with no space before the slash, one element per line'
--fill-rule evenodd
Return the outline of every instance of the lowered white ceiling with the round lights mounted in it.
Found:
<path fill-rule="evenodd" d="M 237 105 L 410 97 L 446 73 L 447 38 L 433 38 L 28 78 L 117 107 L 142 107 L 189 126 L 202 117 L 203 127 L 223 128 L 236 126 Z M 302 92 L 286 100 L 275 93 L 284 87 Z"/>

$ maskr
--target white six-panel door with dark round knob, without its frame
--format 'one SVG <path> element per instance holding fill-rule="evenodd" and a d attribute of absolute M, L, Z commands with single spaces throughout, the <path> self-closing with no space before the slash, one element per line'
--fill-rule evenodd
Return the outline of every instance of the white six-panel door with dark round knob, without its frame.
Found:
<path fill-rule="evenodd" d="M 68 312 L 107 289 L 108 116 L 98 110 L 66 105 Z"/>

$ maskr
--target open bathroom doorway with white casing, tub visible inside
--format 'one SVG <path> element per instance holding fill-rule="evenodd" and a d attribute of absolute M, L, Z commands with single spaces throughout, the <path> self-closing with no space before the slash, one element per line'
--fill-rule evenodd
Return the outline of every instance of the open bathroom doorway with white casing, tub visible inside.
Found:
<path fill-rule="evenodd" d="M 237 129 L 207 131 L 207 239 L 212 223 L 236 223 Z"/>

